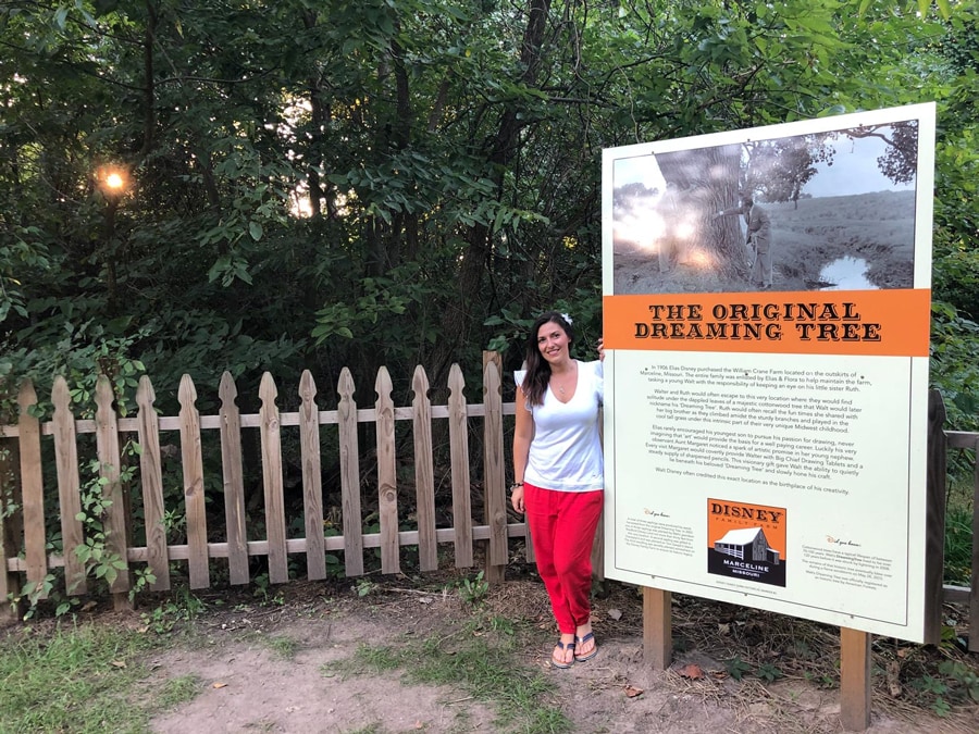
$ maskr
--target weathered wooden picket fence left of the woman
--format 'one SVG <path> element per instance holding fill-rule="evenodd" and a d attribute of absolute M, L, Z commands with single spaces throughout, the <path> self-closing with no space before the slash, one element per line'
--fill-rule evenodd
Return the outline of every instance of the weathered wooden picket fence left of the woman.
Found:
<path fill-rule="evenodd" d="M 270 374 L 264 374 L 258 397 L 261 409 L 257 414 L 241 414 L 236 405 L 237 389 L 232 376 L 225 373 L 221 380 L 219 397 L 221 409 L 216 415 L 200 415 L 196 408 L 197 390 L 188 375 L 181 381 L 177 399 L 179 414 L 159 416 L 153 409 L 156 395 L 149 377 L 139 382 L 136 394 L 135 418 L 121 418 L 113 409 L 113 393 L 108 378 L 100 377 L 95 394 L 94 420 L 76 419 L 71 411 L 69 386 L 57 378 L 51 395 L 52 420 L 40 422 L 30 414 L 30 407 L 38 402 L 29 382 L 20 390 L 20 418 L 16 425 L 0 427 L 0 448 L 13 450 L 9 457 L 18 456 L 18 465 L 0 466 L 0 475 L 7 474 L 7 502 L 18 507 L 2 524 L 0 543 L 0 599 L 9 594 L 16 596 L 26 580 L 32 588 L 50 584 L 51 571 L 63 568 L 64 592 L 82 595 L 88 590 L 89 576 L 85 564 L 75 552 L 49 552 L 46 537 L 46 492 L 41 465 L 42 441 L 53 441 L 57 464 L 58 513 L 61 523 L 62 547 L 74 549 L 85 543 L 85 527 L 78 519 L 83 511 L 82 483 L 79 478 L 78 436 L 95 434 L 96 453 L 100 466 L 101 496 L 110 500 L 104 518 L 107 551 L 121 559 L 123 567 L 110 584 L 117 606 L 125 606 L 133 583 L 133 564 L 145 564 L 154 581 L 152 590 L 171 587 L 171 564 L 187 563 L 190 588 L 211 585 L 212 564 L 215 558 L 227 559 L 227 577 L 231 584 L 251 581 L 249 559 L 268 558 L 269 581 L 285 583 L 289 579 L 288 557 L 305 555 L 307 576 L 310 580 L 327 575 L 327 552 L 343 551 L 344 572 L 347 576 L 364 573 L 364 549 L 380 548 L 381 572 L 400 571 L 400 548 L 417 546 L 418 568 L 421 572 L 438 569 L 439 544 L 451 544 L 457 568 L 474 564 L 473 546 L 485 544 L 487 579 L 503 577 L 503 568 L 509 557 L 508 537 L 525 537 L 523 523 L 507 522 L 506 471 L 504 460 L 504 414 L 512 414 L 512 403 L 504 406 L 500 389 L 498 356 L 484 354 L 483 402 L 468 403 L 463 396 L 464 381 L 458 365 L 448 377 L 448 400 L 444 406 L 432 406 L 427 397 L 429 380 L 424 370 L 416 369 L 411 382 L 414 397 L 410 407 L 396 407 L 392 399 L 392 380 L 386 368 L 381 368 L 374 384 L 377 399 L 372 408 L 359 408 L 354 401 L 355 384 L 348 369 L 340 373 L 336 410 L 319 410 L 314 398 L 317 387 L 312 375 L 302 373 L 299 383 L 299 410 L 280 412 L 275 405 L 278 396 Z M 480 488 L 484 507 L 484 522 L 472 519 L 470 473 L 470 419 L 483 419 L 482 468 Z M 435 511 L 435 473 L 433 466 L 432 422 L 448 421 L 453 526 L 437 527 Z M 395 423 L 411 421 L 413 433 L 413 466 L 416 502 L 413 512 L 417 527 L 399 530 L 398 473 L 395 440 Z M 380 530 L 364 533 L 361 514 L 361 447 L 358 445 L 358 424 L 373 423 L 376 434 L 376 498 Z M 323 486 L 321 478 L 321 426 L 335 425 L 338 435 L 340 469 L 340 505 L 343 533 L 326 537 L 324 534 Z M 283 478 L 283 428 L 298 426 L 301 456 L 302 505 L 305 537 L 287 537 L 287 518 Z M 243 470 L 244 431 L 258 430 L 261 436 L 262 486 L 264 493 L 264 539 L 247 539 L 246 487 Z M 222 482 L 224 487 L 224 520 L 226 537 L 215 539 L 214 530 L 209 533 L 205 501 L 205 464 L 201 451 L 203 432 L 220 434 Z M 161 462 L 161 434 L 178 432 L 183 472 L 183 507 L 164 507 L 164 484 Z M 135 513 L 129 511 L 127 492 L 121 481 L 123 465 L 121 444 L 135 440 L 139 445 L 138 483 L 142 498 L 142 526 L 135 526 Z M 47 451 L 51 453 L 50 448 Z M 134 460 L 135 461 L 135 460 Z M 17 463 L 16 461 L 11 463 Z M 50 474 L 50 471 L 49 471 Z M 135 486 L 135 484 L 134 484 Z M 186 544 L 168 545 L 164 514 L 183 511 L 186 517 Z M 2 517 L 2 515 L 0 515 Z M 213 517 L 213 514 L 212 514 Z M 145 533 L 146 545 L 134 547 L 129 538 L 134 531 Z M 530 548 L 530 544 L 526 544 Z M 532 552 L 529 550 L 532 559 Z M 111 575 L 111 574 L 110 574 Z M 44 598 L 44 594 L 37 595 Z"/>

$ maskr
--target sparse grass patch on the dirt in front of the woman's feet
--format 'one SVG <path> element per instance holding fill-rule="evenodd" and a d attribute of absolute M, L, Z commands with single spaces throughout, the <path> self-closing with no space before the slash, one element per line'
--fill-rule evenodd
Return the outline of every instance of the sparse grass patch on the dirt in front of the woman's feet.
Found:
<path fill-rule="evenodd" d="M 476 634 L 479 633 L 479 634 Z M 352 658 L 324 667 L 332 675 L 402 671 L 408 683 L 451 685 L 492 706 L 499 731 L 557 734 L 572 722 L 548 698 L 553 687 L 521 662 L 513 627 L 495 618 L 474 619 L 461 630 L 396 645 L 364 645 Z"/>

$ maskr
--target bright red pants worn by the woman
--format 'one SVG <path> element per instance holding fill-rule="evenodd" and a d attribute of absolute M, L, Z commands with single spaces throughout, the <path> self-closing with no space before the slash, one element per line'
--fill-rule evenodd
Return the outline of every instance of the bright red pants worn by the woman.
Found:
<path fill-rule="evenodd" d="M 562 634 L 574 634 L 592 613 L 592 545 L 604 492 L 555 492 L 523 485 L 537 572 Z"/>

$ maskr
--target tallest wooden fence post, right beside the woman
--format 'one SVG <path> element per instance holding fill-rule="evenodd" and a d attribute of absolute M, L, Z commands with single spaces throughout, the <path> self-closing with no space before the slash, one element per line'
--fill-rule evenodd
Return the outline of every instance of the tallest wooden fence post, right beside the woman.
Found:
<path fill-rule="evenodd" d="M 509 548 L 507 547 L 507 488 L 503 440 L 503 395 L 497 352 L 483 352 L 483 497 L 490 548 L 484 577 L 490 584 L 503 583 Z"/>

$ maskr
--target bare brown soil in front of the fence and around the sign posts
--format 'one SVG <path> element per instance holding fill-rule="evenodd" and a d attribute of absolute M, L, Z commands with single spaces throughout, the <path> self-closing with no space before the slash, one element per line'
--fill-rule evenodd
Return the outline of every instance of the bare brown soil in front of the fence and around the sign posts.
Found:
<path fill-rule="evenodd" d="M 404 670 L 348 675 L 332 668 L 363 645 L 417 644 L 458 633 L 478 613 L 498 614 L 534 631 L 533 643 L 518 655 L 554 686 L 547 702 L 561 708 L 574 732 L 843 731 L 839 688 L 817 685 L 826 682 L 827 671 L 832 673 L 835 658 L 831 649 L 819 651 L 822 643 L 813 637 L 811 623 L 793 629 L 797 621 L 786 618 L 674 597 L 674 647 L 684 651 L 674 655 L 668 671 L 657 672 L 643 663 L 637 590 L 615 584 L 606 598 L 595 600 L 598 657 L 555 670 L 548 658 L 556 631 L 538 581 L 507 581 L 474 605 L 462 600 L 458 580 L 438 586 L 426 576 L 424 584 L 413 587 L 407 579 L 379 582 L 363 597 L 349 587 L 289 584 L 282 592 L 288 598 L 277 598 L 281 605 L 253 599 L 222 607 L 208 604 L 209 611 L 194 622 L 194 643 L 178 643 L 151 661 L 148 689 L 188 675 L 196 676 L 200 687 L 191 701 L 157 718 L 153 731 L 519 731 L 499 723 L 498 701 L 482 701 L 461 685 L 416 685 Z M 759 614 L 765 619 L 756 623 Z M 834 632 L 826 627 L 815 634 L 831 648 Z M 295 648 L 288 657 L 276 651 L 275 640 L 282 638 Z M 749 659 L 753 645 L 759 656 L 771 656 L 779 639 L 792 639 L 795 649 L 803 649 L 803 638 L 816 654 L 774 659 L 784 671 L 774 683 L 751 676 L 735 681 L 721 662 L 732 650 Z M 893 693 L 895 681 L 890 684 Z M 880 685 L 887 684 L 881 680 Z M 940 719 L 901 700 L 900 693 L 880 696 L 877 691 L 872 707 L 866 730 L 871 734 L 979 731 L 979 708 L 956 709 Z"/>

